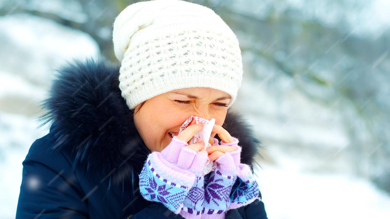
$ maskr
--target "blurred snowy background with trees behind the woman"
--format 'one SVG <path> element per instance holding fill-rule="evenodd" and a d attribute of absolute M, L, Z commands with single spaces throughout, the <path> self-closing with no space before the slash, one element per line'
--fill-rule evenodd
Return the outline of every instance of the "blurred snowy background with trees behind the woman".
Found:
<path fill-rule="evenodd" d="M 390 218 L 390 2 L 204 0 L 239 38 L 232 110 L 262 142 L 269 219 Z M 22 162 L 55 69 L 112 51 L 132 1 L 0 0 L 0 217 L 15 217 Z"/>

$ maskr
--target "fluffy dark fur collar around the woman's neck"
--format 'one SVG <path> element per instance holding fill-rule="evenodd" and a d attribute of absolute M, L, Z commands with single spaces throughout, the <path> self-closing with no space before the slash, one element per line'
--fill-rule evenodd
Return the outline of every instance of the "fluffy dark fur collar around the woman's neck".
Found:
<path fill-rule="evenodd" d="M 119 175 L 134 182 L 134 171 L 140 172 L 151 151 L 135 128 L 134 110 L 129 110 L 121 96 L 119 67 L 103 57 L 62 65 L 49 97 L 41 104 L 47 113 L 39 121 L 40 126 L 52 122 L 52 151 L 71 153 L 73 169 L 81 164 L 87 173 L 97 173 L 100 178 L 121 170 Z M 223 127 L 240 140 L 241 162 L 253 165 L 260 141 L 254 138 L 252 128 L 230 109 Z"/>

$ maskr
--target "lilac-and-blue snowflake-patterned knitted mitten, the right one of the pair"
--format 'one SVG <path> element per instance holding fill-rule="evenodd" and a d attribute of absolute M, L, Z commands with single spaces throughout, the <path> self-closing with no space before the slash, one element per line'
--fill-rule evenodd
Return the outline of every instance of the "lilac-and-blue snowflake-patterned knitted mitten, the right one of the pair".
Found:
<path fill-rule="evenodd" d="M 237 150 L 226 152 L 216 159 L 218 167 L 205 179 L 207 184 L 202 218 L 224 218 L 229 209 L 252 203 L 259 196 L 250 167 L 240 163 L 242 148 L 238 145 L 239 140 L 232 138 L 233 142 L 221 141 L 220 145 L 236 147 Z"/>

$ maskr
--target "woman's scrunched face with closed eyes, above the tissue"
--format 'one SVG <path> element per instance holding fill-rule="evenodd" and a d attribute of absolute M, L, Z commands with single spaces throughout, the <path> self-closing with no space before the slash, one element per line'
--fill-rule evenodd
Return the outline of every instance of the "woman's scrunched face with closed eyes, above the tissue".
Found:
<path fill-rule="evenodd" d="M 229 94 L 213 88 L 176 89 L 148 99 L 135 113 L 134 122 L 146 147 L 161 152 L 171 142 L 169 132 L 179 132 L 191 115 L 207 120 L 215 118 L 215 124 L 222 125 L 230 101 Z M 211 133 L 211 137 L 215 137 L 215 133 Z"/>

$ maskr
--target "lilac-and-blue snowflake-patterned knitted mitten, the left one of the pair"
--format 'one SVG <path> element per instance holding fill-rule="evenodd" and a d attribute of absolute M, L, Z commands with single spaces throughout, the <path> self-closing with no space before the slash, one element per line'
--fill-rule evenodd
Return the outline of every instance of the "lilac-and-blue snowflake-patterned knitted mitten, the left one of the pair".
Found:
<path fill-rule="evenodd" d="M 188 144 L 174 136 L 161 152 L 148 155 L 140 177 L 140 193 L 150 201 L 163 203 L 175 214 L 191 194 L 191 207 L 199 209 L 204 200 L 203 168 L 206 154 L 184 148 Z"/>

